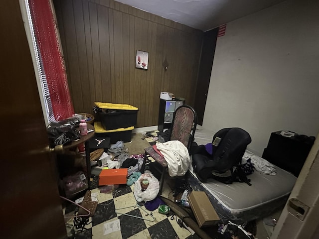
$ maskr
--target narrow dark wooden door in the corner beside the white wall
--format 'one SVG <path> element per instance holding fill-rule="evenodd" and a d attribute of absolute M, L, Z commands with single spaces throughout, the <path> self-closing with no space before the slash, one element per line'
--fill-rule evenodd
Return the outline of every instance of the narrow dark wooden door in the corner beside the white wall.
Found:
<path fill-rule="evenodd" d="M 215 55 L 218 28 L 204 33 L 198 72 L 194 109 L 197 113 L 197 124 L 202 125 L 210 82 L 211 69 Z"/>

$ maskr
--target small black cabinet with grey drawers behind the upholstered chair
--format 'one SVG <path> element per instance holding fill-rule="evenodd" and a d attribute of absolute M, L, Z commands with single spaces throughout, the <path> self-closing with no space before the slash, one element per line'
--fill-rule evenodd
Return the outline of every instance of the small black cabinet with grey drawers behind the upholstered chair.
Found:
<path fill-rule="evenodd" d="M 159 131 L 163 131 L 164 128 L 170 128 L 175 110 L 182 105 L 184 105 L 183 100 L 160 99 Z"/>

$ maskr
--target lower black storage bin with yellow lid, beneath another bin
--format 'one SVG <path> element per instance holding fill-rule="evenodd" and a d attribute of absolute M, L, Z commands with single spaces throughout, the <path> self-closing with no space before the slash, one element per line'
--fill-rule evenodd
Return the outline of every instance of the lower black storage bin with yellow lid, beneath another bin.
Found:
<path fill-rule="evenodd" d="M 101 137 L 110 137 L 111 144 L 117 141 L 130 142 L 132 138 L 132 130 L 134 126 L 128 128 L 117 128 L 112 130 L 105 130 L 102 123 L 99 121 L 94 122 L 95 134 Z"/>

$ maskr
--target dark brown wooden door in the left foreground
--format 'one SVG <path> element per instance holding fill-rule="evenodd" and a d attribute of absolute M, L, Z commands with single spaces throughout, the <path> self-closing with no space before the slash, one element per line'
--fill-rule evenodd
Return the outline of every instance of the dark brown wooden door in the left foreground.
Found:
<path fill-rule="evenodd" d="M 0 3 L 0 238 L 66 238 L 18 0 Z"/>

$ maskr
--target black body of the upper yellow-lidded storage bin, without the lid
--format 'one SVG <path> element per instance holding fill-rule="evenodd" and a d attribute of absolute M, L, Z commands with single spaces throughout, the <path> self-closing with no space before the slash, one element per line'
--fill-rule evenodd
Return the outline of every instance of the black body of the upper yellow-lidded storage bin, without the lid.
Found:
<path fill-rule="evenodd" d="M 138 111 L 115 111 L 99 113 L 101 123 L 105 130 L 127 128 L 136 125 Z"/>

